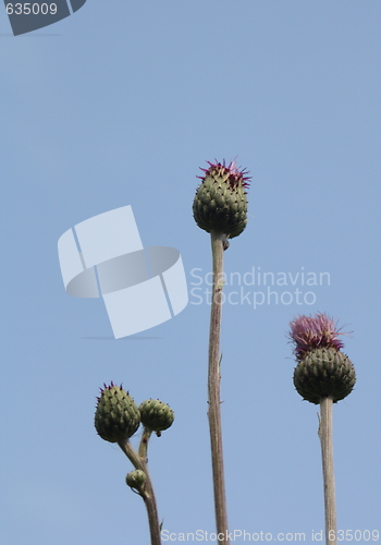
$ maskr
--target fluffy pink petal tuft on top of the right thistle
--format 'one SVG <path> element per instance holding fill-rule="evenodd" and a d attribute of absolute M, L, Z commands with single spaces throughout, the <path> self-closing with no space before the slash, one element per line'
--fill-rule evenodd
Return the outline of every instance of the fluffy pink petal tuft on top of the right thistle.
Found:
<path fill-rule="evenodd" d="M 336 329 L 336 325 L 327 314 L 318 313 L 312 316 L 298 316 L 290 323 L 290 339 L 295 342 L 294 354 L 302 360 L 307 352 L 316 348 L 334 348 L 340 350 L 344 343 L 339 335 L 345 335 Z"/>

